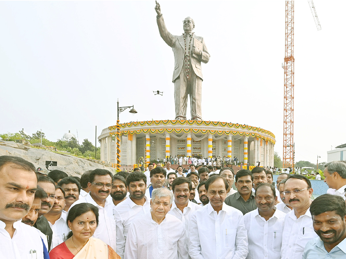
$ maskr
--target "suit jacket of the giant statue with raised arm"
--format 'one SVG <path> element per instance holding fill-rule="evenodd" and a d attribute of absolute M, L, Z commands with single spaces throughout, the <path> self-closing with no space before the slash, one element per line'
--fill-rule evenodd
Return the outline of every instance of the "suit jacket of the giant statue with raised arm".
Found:
<path fill-rule="evenodd" d="M 163 16 L 161 15 L 157 20 L 157 26 L 158 30 L 160 31 L 160 35 L 162 39 L 167 43 L 168 46 L 170 46 L 174 53 L 174 71 L 173 71 L 173 79 L 174 80 L 180 75 L 181 69 L 184 67 L 185 69 L 185 44 L 184 44 L 184 36 L 176 36 L 172 35 L 166 28 L 165 22 L 163 20 Z M 202 37 L 198 37 L 195 34 L 193 34 L 192 38 L 198 39 L 203 44 L 203 51 L 202 51 L 202 58 L 196 59 L 192 57 L 191 54 L 191 60 L 190 60 L 190 69 L 192 67 L 194 73 L 200 77 L 203 80 L 202 76 L 202 68 L 201 68 L 201 62 L 208 63 L 210 55 L 207 50 L 207 46 L 204 43 L 204 39 Z M 191 48 L 192 48 L 193 40 L 191 41 Z M 186 42 L 186 45 L 188 45 L 188 42 Z M 186 46 L 189 47 L 189 46 Z M 190 51 L 191 52 L 191 51 Z"/>

